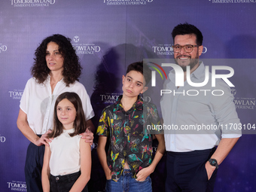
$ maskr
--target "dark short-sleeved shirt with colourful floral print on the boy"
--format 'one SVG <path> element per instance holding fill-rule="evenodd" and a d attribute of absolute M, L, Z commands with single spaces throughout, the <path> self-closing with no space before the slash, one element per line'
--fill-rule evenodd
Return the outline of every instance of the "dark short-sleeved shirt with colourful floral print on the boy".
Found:
<path fill-rule="evenodd" d="M 122 96 L 119 96 L 117 102 L 102 111 L 96 133 L 107 136 L 110 142 L 107 162 L 114 181 L 122 175 L 125 161 L 133 172 L 133 178 L 136 178 L 139 170 L 151 164 L 152 135 L 148 133 L 146 125 L 160 124 L 155 105 L 143 104 L 138 96 L 133 107 L 124 111 L 121 99 Z"/>

